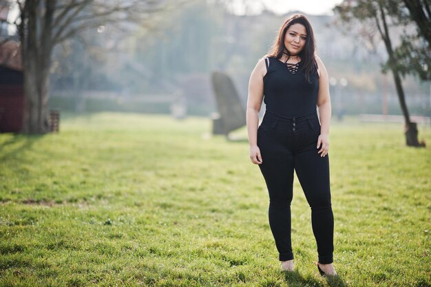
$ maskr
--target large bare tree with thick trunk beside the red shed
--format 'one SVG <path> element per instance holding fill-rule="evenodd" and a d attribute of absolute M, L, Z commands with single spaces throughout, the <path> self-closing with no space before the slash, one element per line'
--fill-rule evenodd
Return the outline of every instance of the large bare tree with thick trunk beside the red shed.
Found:
<path fill-rule="evenodd" d="M 23 132 L 48 132 L 49 73 L 54 47 L 83 30 L 116 23 L 152 26 L 169 0 L 2 0 L 19 10 L 17 25 L 23 57 L 25 111 Z M 169 1 L 173 3 L 172 1 Z M 182 1 L 176 1 L 178 5 Z"/>

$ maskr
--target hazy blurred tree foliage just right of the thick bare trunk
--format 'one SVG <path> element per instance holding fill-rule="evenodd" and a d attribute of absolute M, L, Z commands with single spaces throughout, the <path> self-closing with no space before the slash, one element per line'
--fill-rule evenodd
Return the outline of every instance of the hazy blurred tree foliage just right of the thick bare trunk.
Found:
<path fill-rule="evenodd" d="M 85 30 L 54 48 L 50 70 L 50 99 L 58 94 L 67 96 L 73 100 L 74 111 L 81 113 L 85 111 L 87 103 L 85 91 L 118 91 L 117 79 L 107 76 L 107 71 L 112 69 L 108 63 L 109 58 L 120 61 L 114 51 L 119 50 L 117 44 L 122 43 L 129 33 L 115 31 L 114 34 L 112 30 L 112 25 Z"/>

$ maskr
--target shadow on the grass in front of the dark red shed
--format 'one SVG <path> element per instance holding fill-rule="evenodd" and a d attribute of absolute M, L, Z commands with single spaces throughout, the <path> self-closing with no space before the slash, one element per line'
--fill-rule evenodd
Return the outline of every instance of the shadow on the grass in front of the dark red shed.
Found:
<path fill-rule="evenodd" d="M 0 161 L 15 158 L 19 153 L 31 149 L 35 142 L 41 140 L 44 135 L 13 134 L 5 142 L 0 143 Z"/>

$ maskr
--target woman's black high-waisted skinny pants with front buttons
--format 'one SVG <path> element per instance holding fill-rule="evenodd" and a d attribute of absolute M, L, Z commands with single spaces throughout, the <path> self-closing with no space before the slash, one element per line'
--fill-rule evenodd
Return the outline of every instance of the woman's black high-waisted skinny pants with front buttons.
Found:
<path fill-rule="evenodd" d="M 262 155 L 260 171 L 269 191 L 269 225 L 280 260 L 293 259 L 291 201 L 293 171 L 311 207 L 311 224 L 319 262 L 333 262 L 334 217 L 330 204 L 329 159 L 317 151 L 320 124 L 317 114 L 280 118 L 266 112 L 257 129 Z"/>

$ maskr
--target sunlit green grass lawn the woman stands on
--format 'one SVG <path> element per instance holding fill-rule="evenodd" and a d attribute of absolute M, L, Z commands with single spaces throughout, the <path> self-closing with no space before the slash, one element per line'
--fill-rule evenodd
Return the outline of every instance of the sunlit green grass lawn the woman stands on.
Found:
<path fill-rule="evenodd" d="M 104 113 L 0 134 L 0 286 L 431 286 L 431 148 L 406 147 L 401 125 L 331 127 L 336 279 L 313 264 L 297 180 L 297 271 L 280 272 L 248 143 L 209 131 Z"/>

